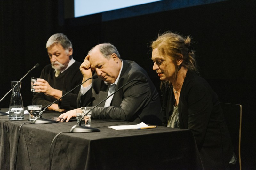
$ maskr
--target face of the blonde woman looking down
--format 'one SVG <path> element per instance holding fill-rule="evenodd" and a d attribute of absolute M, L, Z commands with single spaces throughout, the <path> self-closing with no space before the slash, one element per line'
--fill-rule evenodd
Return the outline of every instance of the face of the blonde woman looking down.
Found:
<path fill-rule="evenodd" d="M 154 62 L 153 70 L 156 71 L 160 80 L 171 81 L 175 79 L 175 64 L 171 57 L 160 56 L 158 48 L 153 49 L 152 58 Z"/>

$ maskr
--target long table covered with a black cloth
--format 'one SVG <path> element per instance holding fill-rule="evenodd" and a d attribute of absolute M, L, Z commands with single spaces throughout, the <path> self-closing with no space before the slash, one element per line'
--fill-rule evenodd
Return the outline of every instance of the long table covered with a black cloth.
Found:
<path fill-rule="evenodd" d="M 4 109 L 2 109 L 3 111 Z M 44 118 L 60 113 L 44 113 Z M 53 138 L 51 169 L 203 169 L 190 130 L 157 126 L 153 129 L 114 130 L 108 126 L 132 125 L 120 120 L 92 120 L 100 132 L 69 133 L 76 124 L 24 124 L 0 116 L 0 169 L 50 169 L 49 150 Z"/>

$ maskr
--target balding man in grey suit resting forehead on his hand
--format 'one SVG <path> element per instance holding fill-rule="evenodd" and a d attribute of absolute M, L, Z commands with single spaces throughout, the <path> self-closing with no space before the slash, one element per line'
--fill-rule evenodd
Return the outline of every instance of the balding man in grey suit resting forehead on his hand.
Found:
<path fill-rule="evenodd" d="M 161 105 L 155 86 L 147 72 L 134 61 L 121 60 L 115 46 L 109 43 L 92 48 L 80 66 L 83 81 L 97 74 L 81 85 L 78 107 L 91 109 L 117 89 L 135 79 L 92 110 L 92 119 L 117 119 L 130 122 L 161 125 Z M 75 110 L 63 113 L 66 122 L 76 117 Z"/>

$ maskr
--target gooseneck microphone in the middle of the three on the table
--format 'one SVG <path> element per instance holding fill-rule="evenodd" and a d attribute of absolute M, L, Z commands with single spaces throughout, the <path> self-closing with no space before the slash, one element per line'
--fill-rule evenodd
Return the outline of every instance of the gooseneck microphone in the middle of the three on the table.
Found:
<path fill-rule="evenodd" d="M 87 80 L 90 79 L 95 79 L 98 78 L 98 75 L 94 75 L 91 78 L 88 78 Z M 72 90 L 70 90 L 69 92 L 67 92 L 66 94 L 64 94 L 63 96 L 61 96 L 59 99 L 55 100 L 54 102 L 52 102 L 51 104 L 49 104 L 48 106 L 46 106 L 38 115 L 37 118 L 35 118 L 32 122 L 32 124 L 47 124 L 47 123 L 58 123 L 57 121 L 51 120 L 51 119 L 45 119 L 42 118 L 42 114 L 43 112 L 50 106 L 52 106 L 52 104 L 54 104 L 55 102 L 59 101 L 61 98 L 63 98 L 64 96 L 66 96 L 67 94 L 69 94 L 70 92 L 72 92 L 74 89 L 76 89 L 77 87 L 81 86 L 82 84 L 84 84 L 87 80 L 85 80 L 84 82 L 82 82 L 81 84 L 77 85 L 75 88 L 73 88 Z"/>

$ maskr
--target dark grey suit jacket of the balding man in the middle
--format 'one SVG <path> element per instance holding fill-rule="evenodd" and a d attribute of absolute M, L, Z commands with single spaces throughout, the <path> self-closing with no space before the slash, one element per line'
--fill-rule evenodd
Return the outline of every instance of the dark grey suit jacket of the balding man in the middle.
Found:
<path fill-rule="evenodd" d="M 155 86 L 148 74 L 137 63 L 123 61 L 123 69 L 116 90 L 133 79 L 145 78 L 146 82 L 134 81 L 114 94 L 109 107 L 101 103 L 92 111 L 92 119 L 118 119 L 130 122 L 161 125 L 161 104 Z M 116 91 L 115 90 L 115 91 Z M 108 86 L 100 78 L 92 80 L 92 88 L 77 98 L 78 107 L 95 106 L 108 95 Z M 92 107 L 89 107 L 92 108 Z"/>

